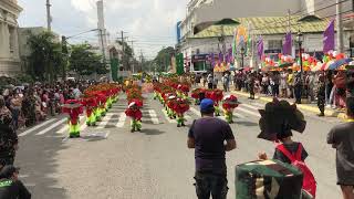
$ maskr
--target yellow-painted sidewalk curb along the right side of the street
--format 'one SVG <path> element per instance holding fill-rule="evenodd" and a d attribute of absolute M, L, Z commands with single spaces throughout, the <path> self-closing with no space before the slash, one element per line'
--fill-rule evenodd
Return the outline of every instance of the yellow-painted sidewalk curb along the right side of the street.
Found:
<path fill-rule="evenodd" d="M 246 97 L 249 97 L 250 95 L 248 93 L 244 93 L 244 92 L 239 92 L 239 91 L 232 91 L 231 93 L 233 94 L 237 94 L 237 95 L 240 95 L 240 96 L 246 96 Z M 272 102 L 273 100 L 270 98 L 270 97 L 262 97 L 262 96 L 258 96 L 256 95 L 254 97 L 256 100 L 260 100 L 260 101 L 263 101 L 263 102 Z M 308 105 L 303 105 L 303 104 L 298 104 L 296 105 L 302 111 L 308 111 L 308 112 L 312 112 L 314 114 L 320 114 L 320 111 L 319 108 L 316 107 L 311 107 L 311 106 L 308 106 Z M 326 109 L 324 112 L 325 116 L 327 117 L 337 117 L 340 119 L 346 119 L 346 114 L 345 113 L 341 113 L 341 112 L 334 112 L 334 111 L 331 111 L 331 109 Z"/>

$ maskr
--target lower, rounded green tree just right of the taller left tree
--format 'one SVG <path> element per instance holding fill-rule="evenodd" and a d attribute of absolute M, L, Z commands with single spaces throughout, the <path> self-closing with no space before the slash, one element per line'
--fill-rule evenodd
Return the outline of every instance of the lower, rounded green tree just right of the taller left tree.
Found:
<path fill-rule="evenodd" d="M 102 55 L 91 51 L 92 46 L 87 43 L 71 46 L 69 57 L 70 70 L 80 75 L 91 75 L 93 73 L 106 74 L 107 70 L 102 64 Z"/>

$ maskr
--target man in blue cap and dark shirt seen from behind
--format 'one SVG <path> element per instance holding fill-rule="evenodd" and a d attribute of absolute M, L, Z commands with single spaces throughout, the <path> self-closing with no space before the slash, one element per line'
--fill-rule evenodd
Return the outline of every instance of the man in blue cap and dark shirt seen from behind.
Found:
<path fill-rule="evenodd" d="M 214 102 L 200 103 L 201 118 L 194 122 L 188 133 L 188 148 L 195 148 L 196 192 L 198 199 L 226 199 L 228 192 L 226 151 L 236 148 L 231 127 L 214 117 Z M 225 144 L 226 142 L 226 144 Z"/>

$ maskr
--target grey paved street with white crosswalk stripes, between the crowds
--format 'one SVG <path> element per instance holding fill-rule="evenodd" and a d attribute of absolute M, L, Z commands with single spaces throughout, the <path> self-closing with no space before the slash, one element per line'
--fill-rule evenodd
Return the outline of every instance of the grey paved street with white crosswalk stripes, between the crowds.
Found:
<path fill-rule="evenodd" d="M 243 103 L 237 111 L 232 130 L 238 149 L 227 155 L 229 197 L 235 198 L 235 166 L 254 160 L 261 150 L 272 154 L 274 145 L 257 139 L 261 102 Z M 129 133 L 122 100 L 98 125 L 82 125 L 83 138 L 65 138 L 65 119 L 53 118 L 19 133 L 17 165 L 21 179 L 35 199 L 194 199 L 194 150 L 186 147 L 188 127 L 177 128 L 163 106 L 147 96 L 142 133 Z M 198 118 L 196 106 L 187 115 L 187 126 Z M 306 160 L 319 181 L 319 199 L 340 198 L 335 186 L 335 151 L 325 144 L 336 118 L 306 115 L 308 129 L 294 139 L 310 154 Z M 82 119 L 83 122 L 83 119 Z"/>

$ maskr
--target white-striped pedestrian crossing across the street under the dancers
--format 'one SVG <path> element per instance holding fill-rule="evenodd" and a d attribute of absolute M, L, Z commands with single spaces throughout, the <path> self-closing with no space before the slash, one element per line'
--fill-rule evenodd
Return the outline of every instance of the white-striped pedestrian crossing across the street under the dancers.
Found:
<path fill-rule="evenodd" d="M 169 118 L 168 114 L 165 108 L 144 108 L 143 112 L 143 128 L 145 125 L 168 125 L 168 124 L 177 124 L 177 121 L 174 118 Z M 158 106 L 157 106 L 158 107 Z M 221 107 L 220 107 L 221 108 Z M 257 122 L 260 118 L 259 109 L 264 108 L 263 104 L 259 103 L 248 103 L 248 104 L 240 104 L 233 111 L 233 121 L 241 121 L 241 122 Z M 225 116 L 219 118 L 225 119 Z M 191 106 L 190 109 L 185 114 L 185 119 L 187 124 L 191 124 L 194 119 L 200 117 L 200 111 L 198 106 Z M 96 126 L 87 126 L 85 123 L 85 116 L 82 115 L 80 117 L 80 129 L 82 134 L 87 132 L 95 132 L 102 129 L 112 129 L 112 128 L 129 128 L 131 118 L 127 117 L 124 113 L 123 107 L 113 107 L 101 122 L 96 123 Z M 236 124 L 237 125 L 237 124 Z M 25 129 L 22 133 L 19 133 L 19 137 L 24 136 L 49 136 L 55 134 L 56 137 L 59 136 L 66 136 L 69 132 L 67 127 L 67 118 L 60 117 L 60 118 L 50 118 L 37 126 Z"/>

